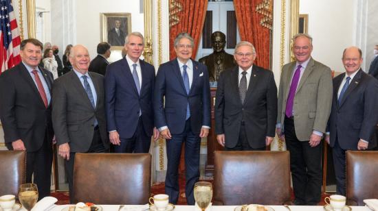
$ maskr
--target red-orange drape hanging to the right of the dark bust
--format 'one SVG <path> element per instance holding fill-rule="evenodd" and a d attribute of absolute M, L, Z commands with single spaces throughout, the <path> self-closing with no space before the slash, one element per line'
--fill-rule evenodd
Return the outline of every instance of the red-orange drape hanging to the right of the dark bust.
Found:
<path fill-rule="evenodd" d="M 234 7 L 241 40 L 254 45 L 257 53 L 255 64 L 269 69 L 270 29 L 260 25 L 263 15 L 256 12 L 256 5 L 262 1 L 234 0 Z"/>

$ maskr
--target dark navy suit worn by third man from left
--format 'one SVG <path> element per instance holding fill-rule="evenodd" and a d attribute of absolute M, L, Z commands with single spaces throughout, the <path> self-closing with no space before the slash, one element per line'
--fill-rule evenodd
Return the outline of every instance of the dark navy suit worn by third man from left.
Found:
<path fill-rule="evenodd" d="M 126 58 L 107 66 L 107 129 L 108 132 L 117 130 L 121 140 L 121 145 L 115 146 L 115 152 L 147 153 L 150 147 L 154 126 L 152 101 L 155 69 L 147 62 L 139 62 L 142 72 L 140 95 Z"/>

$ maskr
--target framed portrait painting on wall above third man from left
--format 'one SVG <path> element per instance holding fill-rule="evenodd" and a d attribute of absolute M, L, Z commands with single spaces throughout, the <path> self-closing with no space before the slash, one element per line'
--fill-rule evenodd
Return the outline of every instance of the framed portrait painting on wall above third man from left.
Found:
<path fill-rule="evenodd" d="M 131 32 L 131 13 L 102 13 L 102 41 L 113 49 L 124 46 L 124 38 Z"/>

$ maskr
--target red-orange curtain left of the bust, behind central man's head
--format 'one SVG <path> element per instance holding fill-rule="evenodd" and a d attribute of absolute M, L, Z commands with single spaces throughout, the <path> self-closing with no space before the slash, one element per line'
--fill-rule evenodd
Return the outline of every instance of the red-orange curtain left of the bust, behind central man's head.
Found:
<path fill-rule="evenodd" d="M 181 11 L 177 13 L 179 23 L 170 26 L 169 29 L 169 58 L 170 60 L 173 60 L 176 57 L 173 42 L 177 34 L 187 32 L 190 34 L 190 36 L 192 36 L 192 38 L 194 38 L 192 53 L 192 58 L 194 59 L 197 54 L 203 23 L 205 22 L 206 10 L 208 9 L 208 0 L 170 0 L 170 5 L 172 1 L 176 1 L 181 4 Z"/>

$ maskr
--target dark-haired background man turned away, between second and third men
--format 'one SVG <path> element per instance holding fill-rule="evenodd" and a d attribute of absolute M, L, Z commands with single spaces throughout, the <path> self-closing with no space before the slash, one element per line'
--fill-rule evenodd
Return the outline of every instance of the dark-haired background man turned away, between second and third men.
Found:
<path fill-rule="evenodd" d="M 97 45 L 97 53 L 98 55 L 91 61 L 89 64 L 89 72 L 99 73 L 101 75 L 105 75 L 107 71 L 107 66 L 109 64 L 107 58 L 110 57 L 110 45 L 108 42 L 100 42 Z"/>

